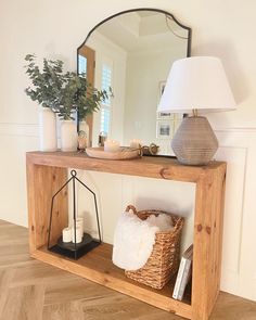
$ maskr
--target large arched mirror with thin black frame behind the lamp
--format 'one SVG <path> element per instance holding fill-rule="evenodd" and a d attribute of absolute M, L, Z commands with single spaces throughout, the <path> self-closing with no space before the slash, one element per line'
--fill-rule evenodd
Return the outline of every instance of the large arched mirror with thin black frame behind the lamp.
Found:
<path fill-rule="evenodd" d="M 159 155 L 171 154 L 170 139 L 182 115 L 156 108 L 171 64 L 189 55 L 190 40 L 190 28 L 155 10 L 119 13 L 89 34 L 78 48 L 78 72 L 95 88 L 114 92 L 87 119 L 92 146 L 104 131 L 121 145 L 136 139 L 157 144 Z"/>

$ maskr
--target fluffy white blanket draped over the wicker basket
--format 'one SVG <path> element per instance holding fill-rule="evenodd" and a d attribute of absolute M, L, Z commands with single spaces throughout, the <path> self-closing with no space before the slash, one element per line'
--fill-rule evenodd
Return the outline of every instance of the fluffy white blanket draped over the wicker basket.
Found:
<path fill-rule="evenodd" d="M 171 218 L 165 214 L 142 221 L 133 213 L 124 213 L 115 229 L 113 264 L 126 270 L 142 268 L 152 253 L 155 232 L 171 228 Z"/>

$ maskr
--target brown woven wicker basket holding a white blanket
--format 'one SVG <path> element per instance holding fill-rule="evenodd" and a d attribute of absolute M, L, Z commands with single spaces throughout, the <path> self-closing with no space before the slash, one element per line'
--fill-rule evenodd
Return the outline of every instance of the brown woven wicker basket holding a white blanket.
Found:
<path fill-rule="evenodd" d="M 137 212 L 132 205 L 128 205 L 126 212 L 130 209 L 141 220 L 145 220 L 150 215 L 168 214 L 161 210 Z M 155 244 L 146 264 L 138 270 L 125 271 L 126 277 L 154 289 L 162 289 L 178 271 L 179 267 L 180 238 L 184 219 L 172 214 L 168 215 L 171 216 L 174 229 L 156 232 Z"/>

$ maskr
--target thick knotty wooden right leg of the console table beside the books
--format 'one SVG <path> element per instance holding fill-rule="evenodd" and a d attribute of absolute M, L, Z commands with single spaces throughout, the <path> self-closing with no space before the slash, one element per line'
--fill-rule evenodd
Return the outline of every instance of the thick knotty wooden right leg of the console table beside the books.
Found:
<path fill-rule="evenodd" d="M 219 293 L 226 168 L 196 182 L 192 319 L 207 320 Z"/>

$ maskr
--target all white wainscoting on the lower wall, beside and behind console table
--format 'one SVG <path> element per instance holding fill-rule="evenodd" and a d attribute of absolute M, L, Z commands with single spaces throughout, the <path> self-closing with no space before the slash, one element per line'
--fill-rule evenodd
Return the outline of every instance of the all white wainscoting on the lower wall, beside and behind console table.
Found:
<path fill-rule="evenodd" d="M 0 123 L 0 218 L 23 226 L 27 225 L 25 153 L 38 149 L 37 132 L 35 124 Z M 221 290 L 256 300 L 256 129 L 221 129 L 216 135 L 220 141 L 216 158 L 228 162 Z M 154 206 L 187 215 L 183 247 L 191 241 L 193 183 L 84 171 L 79 177 L 97 192 L 106 242 L 113 241 L 116 220 L 129 203 L 139 209 Z M 90 201 L 82 196 L 88 212 Z M 88 222 L 94 231 L 92 218 Z"/>

